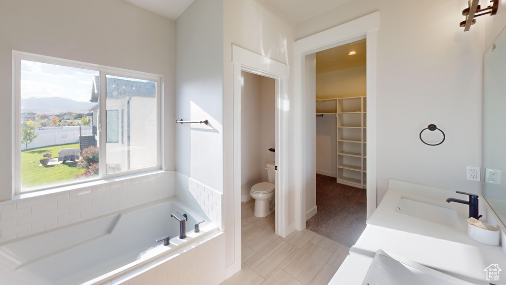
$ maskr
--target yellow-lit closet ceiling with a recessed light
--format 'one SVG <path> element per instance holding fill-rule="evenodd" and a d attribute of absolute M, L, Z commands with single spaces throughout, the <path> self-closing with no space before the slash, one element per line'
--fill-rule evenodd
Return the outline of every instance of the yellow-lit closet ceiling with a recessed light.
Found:
<path fill-rule="evenodd" d="M 365 40 L 331 48 L 316 53 L 316 74 L 365 65 Z M 354 50 L 355 55 L 348 55 Z"/>

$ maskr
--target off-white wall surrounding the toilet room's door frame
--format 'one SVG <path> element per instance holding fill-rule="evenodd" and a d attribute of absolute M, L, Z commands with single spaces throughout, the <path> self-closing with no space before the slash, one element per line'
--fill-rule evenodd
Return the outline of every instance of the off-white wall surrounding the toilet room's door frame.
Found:
<path fill-rule="evenodd" d="M 227 213 L 234 212 L 234 188 L 233 188 L 233 64 L 231 61 L 232 44 L 249 50 L 251 52 L 269 57 L 284 64 L 293 62 L 293 42 L 295 37 L 295 26 L 284 18 L 279 12 L 271 8 L 263 1 L 256 0 L 224 0 L 223 1 L 223 149 L 224 149 L 224 199 L 225 199 L 225 229 L 226 232 L 226 266 L 235 261 L 240 264 L 240 256 L 234 257 L 234 217 Z M 290 88 L 290 86 L 288 87 Z M 288 98 L 287 98 L 288 99 Z M 298 102 L 289 102 L 290 110 L 297 109 Z M 293 118 L 296 114 L 291 114 Z M 288 121 L 293 121 L 288 118 Z M 288 126 L 295 129 L 296 126 Z M 288 140 L 293 140 L 288 137 Z M 289 151 L 295 151 L 289 146 Z M 294 166 L 290 163 L 288 175 L 295 175 Z M 295 204 L 295 179 L 288 180 L 287 187 L 288 204 Z M 294 224 L 295 211 L 289 209 L 287 224 Z M 294 228 L 294 226 L 293 226 Z M 239 231 L 240 232 L 240 231 Z M 240 242 L 240 240 L 239 240 Z"/>

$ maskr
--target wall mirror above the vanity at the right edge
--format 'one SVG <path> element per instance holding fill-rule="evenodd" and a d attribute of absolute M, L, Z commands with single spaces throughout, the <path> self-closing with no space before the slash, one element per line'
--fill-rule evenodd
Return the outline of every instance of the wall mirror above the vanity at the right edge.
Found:
<path fill-rule="evenodd" d="M 485 52 L 483 61 L 483 170 L 483 196 L 506 225 L 505 30 Z"/>

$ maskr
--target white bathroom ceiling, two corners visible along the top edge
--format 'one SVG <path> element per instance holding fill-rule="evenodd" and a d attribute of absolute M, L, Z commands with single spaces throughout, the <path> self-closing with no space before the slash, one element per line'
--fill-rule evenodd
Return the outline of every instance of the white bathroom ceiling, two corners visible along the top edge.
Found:
<path fill-rule="evenodd" d="M 165 18 L 176 20 L 193 0 L 125 0 Z M 295 24 L 351 0 L 264 0 Z"/>

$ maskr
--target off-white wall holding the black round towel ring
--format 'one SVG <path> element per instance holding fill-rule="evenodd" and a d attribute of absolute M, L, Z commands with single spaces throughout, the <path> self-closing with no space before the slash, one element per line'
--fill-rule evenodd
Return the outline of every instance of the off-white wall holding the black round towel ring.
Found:
<path fill-rule="evenodd" d="M 297 39 L 380 13 L 377 30 L 377 201 L 393 178 L 481 192 L 466 165 L 481 165 L 483 26 L 458 26 L 465 2 L 355 0 L 297 25 Z M 495 16 L 493 16 L 495 17 Z M 483 17 L 486 18 L 486 17 Z M 430 19 L 430 20 L 427 20 Z M 408 40 L 409 39 L 409 40 Z M 419 132 L 436 124 L 438 147 Z"/>

